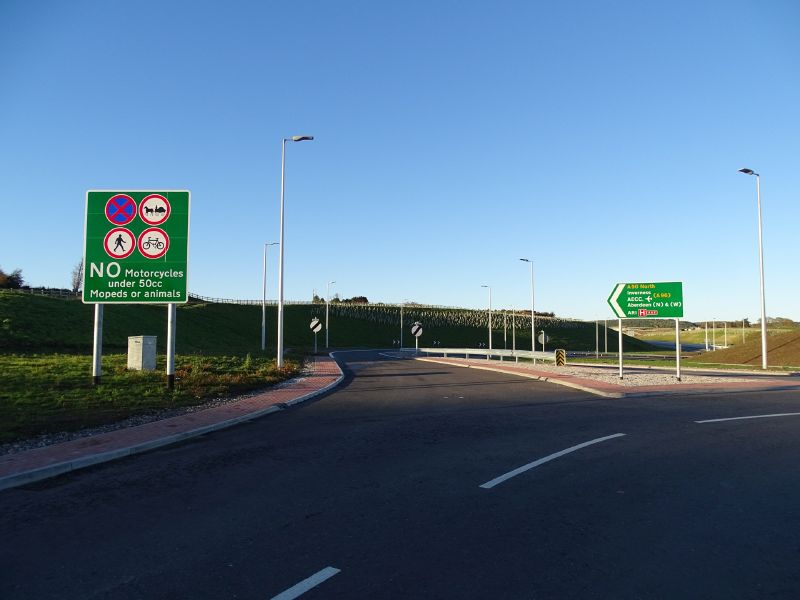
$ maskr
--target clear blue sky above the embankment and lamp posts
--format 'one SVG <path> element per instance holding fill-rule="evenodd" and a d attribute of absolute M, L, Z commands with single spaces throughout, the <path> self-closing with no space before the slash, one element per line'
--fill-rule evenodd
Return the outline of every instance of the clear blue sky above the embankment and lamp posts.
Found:
<path fill-rule="evenodd" d="M 0 267 L 68 286 L 88 189 L 189 189 L 189 287 L 800 320 L 794 2 L 0 2 Z M 277 289 L 271 248 L 268 296 Z"/>

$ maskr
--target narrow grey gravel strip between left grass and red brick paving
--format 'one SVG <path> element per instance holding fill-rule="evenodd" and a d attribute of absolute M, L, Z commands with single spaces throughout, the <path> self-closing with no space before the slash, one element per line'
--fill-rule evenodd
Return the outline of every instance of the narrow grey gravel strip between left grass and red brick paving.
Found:
<path fill-rule="evenodd" d="M 253 390 L 252 392 L 241 394 L 239 396 L 212 398 L 211 400 L 207 400 L 203 404 L 197 404 L 195 406 L 183 406 L 180 408 L 169 408 L 152 413 L 135 415 L 133 417 L 128 417 L 123 421 L 107 423 L 106 425 L 99 425 L 97 427 L 92 427 L 90 429 L 81 429 L 80 431 L 61 431 L 58 433 L 45 433 L 35 438 L 30 438 L 27 440 L 17 440 L 16 442 L 8 442 L 5 444 L 0 444 L 0 456 L 6 454 L 15 454 L 17 452 L 25 452 L 26 450 L 34 450 L 36 448 L 44 448 L 45 446 L 52 446 L 53 444 L 60 444 L 62 442 L 70 442 L 72 440 L 77 440 L 80 438 L 85 438 L 100 433 L 108 433 L 110 431 L 117 431 L 118 429 L 126 429 L 128 427 L 136 427 L 137 425 L 145 425 L 147 423 L 152 423 L 153 421 L 161 421 L 163 419 L 169 419 L 172 417 L 178 417 L 180 415 L 199 412 L 201 410 L 206 410 L 208 408 L 216 408 L 217 406 L 224 406 L 225 404 L 230 404 L 231 402 L 238 402 L 239 400 L 252 398 L 253 396 L 258 396 L 259 394 L 263 394 L 264 392 L 267 392 L 269 390 L 279 390 L 282 387 L 285 387 L 289 384 L 303 381 L 313 372 L 314 372 L 314 367 L 311 364 L 305 364 L 303 365 L 303 368 L 300 370 L 300 374 L 294 379 L 282 381 L 281 383 L 271 385 L 263 389 Z"/>

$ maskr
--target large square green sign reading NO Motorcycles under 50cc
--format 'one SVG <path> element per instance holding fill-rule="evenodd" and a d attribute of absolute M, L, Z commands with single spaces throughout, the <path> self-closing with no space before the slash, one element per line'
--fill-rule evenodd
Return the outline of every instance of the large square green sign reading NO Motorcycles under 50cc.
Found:
<path fill-rule="evenodd" d="M 188 191 L 88 191 L 84 244 L 85 303 L 188 301 Z"/>

